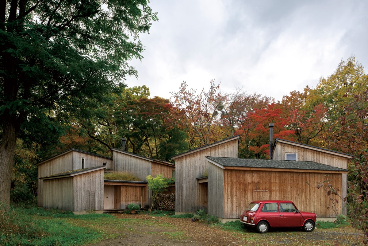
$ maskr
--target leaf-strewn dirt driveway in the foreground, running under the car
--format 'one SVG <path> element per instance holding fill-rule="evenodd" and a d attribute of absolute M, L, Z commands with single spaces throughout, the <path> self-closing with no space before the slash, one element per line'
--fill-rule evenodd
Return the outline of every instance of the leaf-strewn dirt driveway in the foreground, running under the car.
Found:
<path fill-rule="evenodd" d="M 110 228 L 120 233 L 115 239 L 93 246 L 226 246 L 226 245 L 348 245 L 342 229 L 320 229 L 303 232 L 299 228 L 270 230 L 260 234 L 244 229 L 243 232 L 224 231 L 190 219 L 155 217 L 152 215 L 115 214 L 126 225 L 123 229 Z M 354 242 L 353 228 L 345 228 L 350 244 Z M 107 233 L 109 233 L 107 231 Z"/>

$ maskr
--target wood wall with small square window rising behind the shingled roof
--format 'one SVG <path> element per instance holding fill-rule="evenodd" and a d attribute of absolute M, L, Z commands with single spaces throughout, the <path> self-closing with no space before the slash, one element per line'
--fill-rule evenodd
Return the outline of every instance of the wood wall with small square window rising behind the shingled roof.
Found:
<path fill-rule="evenodd" d="M 347 169 L 348 158 L 339 156 L 337 153 L 321 150 L 311 150 L 308 148 L 295 146 L 292 144 L 286 144 L 277 142 L 275 150 L 273 151 L 274 160 L 285 160 L 285 153 L 292 152 L 297 153 L 297 161 L 314 161 L 329 166 L 335 166 L 337 168 Z M 347 196 L 347 174 L 342 175 L 342 187 L 340 189 L 343 197 Z"/>

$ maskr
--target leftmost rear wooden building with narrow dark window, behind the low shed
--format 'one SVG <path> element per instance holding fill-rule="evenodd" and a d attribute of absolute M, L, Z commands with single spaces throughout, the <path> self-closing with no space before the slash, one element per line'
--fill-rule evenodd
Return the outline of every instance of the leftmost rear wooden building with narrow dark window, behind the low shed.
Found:
<path fill-rule="evenodd" d="M 112 169 L 112 164 L 113 161 L 111 158 L 77 149 L 64 151 L 45 161 L 39 162 L 36 164 L 38 169 L 38 206 L 43 207 L 43 179 L 40 178 L 97 166 L 105 166 L 106 169 Z"/>

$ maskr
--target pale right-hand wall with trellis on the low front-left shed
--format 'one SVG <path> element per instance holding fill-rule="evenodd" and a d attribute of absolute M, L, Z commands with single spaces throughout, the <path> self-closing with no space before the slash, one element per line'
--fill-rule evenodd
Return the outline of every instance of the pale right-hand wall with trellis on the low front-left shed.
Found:
<path fill-rule="evenodd" d="M 74 210 L 103 210 L 104 169 L 82 173 L 74 177 Z M 93 194 L 94 193 L 94 194 Z"/>

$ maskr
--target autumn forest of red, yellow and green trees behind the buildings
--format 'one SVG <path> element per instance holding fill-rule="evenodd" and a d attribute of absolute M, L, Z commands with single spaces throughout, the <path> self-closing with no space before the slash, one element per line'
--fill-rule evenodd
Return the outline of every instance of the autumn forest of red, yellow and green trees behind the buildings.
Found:
<path fill-rule="evenodd" d="M 274 137 L 364 157 L 367 78 L 352 56 L 341 60 L 329 77 L 321 77 L 316 88 L 291 91 L 281 102 L 247 94 L 246 85 L 224 94 L 213 80 L 200 92 L 183 82 L 170 99 L 151 97 L 145 85 L 120 84 L 98 107 L 54 119 L 60 127 L 43 141 L 18 138 L 11 198 L 15 203 L 36 200 L 34 164 L 70 148 L 112 157 L 111 148 L 121 148 L 123 137 L 126 151 L 171 161 L 173 155 L 239 135 L 238 157 L 268 158 L 268 124 L 274 123 Z"/>

